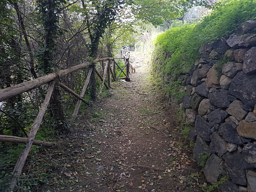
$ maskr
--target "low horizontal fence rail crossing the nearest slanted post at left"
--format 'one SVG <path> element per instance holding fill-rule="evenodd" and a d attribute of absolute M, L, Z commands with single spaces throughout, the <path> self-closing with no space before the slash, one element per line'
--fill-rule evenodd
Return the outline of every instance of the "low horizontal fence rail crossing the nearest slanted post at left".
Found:
<path fill-rule="evenodd" d="M 28 143 L 28 138 L 0 134 L 0 142 Z M 55 145 L 55 143 L 33 140 L 32 145 L 39 145 L 39 146 L 42 145 L 44 147 L 51 147 L 51 146 Z"/>

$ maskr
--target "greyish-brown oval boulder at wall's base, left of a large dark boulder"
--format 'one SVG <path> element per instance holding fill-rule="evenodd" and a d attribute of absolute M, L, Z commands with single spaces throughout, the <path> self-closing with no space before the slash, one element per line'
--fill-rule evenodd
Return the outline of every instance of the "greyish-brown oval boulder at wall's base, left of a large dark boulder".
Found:
<path fill-rule="evenodd" d="M 212 154 L 203 169 L 206 180 L 210 183 L 217 183 L 223 174 L 223 160 Z"/>

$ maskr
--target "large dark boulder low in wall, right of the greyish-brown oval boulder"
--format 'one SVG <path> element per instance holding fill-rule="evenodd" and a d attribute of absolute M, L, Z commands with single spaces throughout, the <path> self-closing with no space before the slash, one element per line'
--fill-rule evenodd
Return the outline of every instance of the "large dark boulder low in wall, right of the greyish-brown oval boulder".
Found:
<path fill-rule="evenodd" d="M 223 155 L 224 170 L 229 178 L 239 185 L 247 185 L 246 170 L 252 169 L 253 167 L 249 165 L 243 159 L 243 156 L 238 151 L 227 152 Z"/>

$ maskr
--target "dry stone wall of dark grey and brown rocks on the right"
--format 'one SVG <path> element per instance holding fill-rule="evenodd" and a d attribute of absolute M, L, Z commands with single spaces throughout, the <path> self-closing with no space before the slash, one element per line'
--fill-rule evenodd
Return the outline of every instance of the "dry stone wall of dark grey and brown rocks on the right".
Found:
<path fill-rule="evenodd" d="M 182 107 L 195 125 L 194 158 L 209 157 L 204 174 L 210 183 L 230 178 L 222 192 L 256 192 L 255 29 L 256 21 L 247 21 L 228 39 L 201 47 L 186 81 Z"/>

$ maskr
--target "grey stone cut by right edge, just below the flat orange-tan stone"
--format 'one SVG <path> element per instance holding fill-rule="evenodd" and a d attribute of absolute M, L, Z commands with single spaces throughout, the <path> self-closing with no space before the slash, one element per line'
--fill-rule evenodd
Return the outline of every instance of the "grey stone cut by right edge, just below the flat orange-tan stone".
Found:
<path fill-rule="evenodd" d="M 256 142 L 247 143 L 242 149 L 242 156 L 248 164 L 256 168 Z"/>

